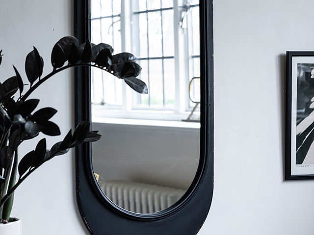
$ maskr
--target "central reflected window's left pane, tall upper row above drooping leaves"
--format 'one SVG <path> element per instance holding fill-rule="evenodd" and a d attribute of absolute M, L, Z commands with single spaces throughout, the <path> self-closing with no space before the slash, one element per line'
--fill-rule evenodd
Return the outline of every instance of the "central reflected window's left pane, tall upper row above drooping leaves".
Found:
<path fill-rule="evenodd" d="M 146 13 L 135 14 L 132 24 L 133 54 L 138 58 L 147 58 L 147 18 Z"/>

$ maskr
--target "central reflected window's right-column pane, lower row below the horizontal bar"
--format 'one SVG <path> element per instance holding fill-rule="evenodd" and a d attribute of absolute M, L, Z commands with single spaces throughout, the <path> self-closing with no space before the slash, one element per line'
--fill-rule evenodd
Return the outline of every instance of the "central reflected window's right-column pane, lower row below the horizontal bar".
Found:
<path fill-rule="evenodd" d="M 164 65 L 164 87 L 165 87 L 165 106 L 174 108 L 175 105 L 175 61 L 174 59 L 165 59 Z M 170 106 L 170 107 L 169 107 Z"/>

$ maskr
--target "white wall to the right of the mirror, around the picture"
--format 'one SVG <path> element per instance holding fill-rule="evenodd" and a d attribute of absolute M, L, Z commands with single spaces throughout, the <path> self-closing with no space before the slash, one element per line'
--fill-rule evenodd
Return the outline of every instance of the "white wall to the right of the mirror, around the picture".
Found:
<path fill-rule="evenodd" d="M 313 235 L 314 181 L 284 182 L 287 50 L 313 0 L 214 0 L 214 195 L 200 235 Z"/>

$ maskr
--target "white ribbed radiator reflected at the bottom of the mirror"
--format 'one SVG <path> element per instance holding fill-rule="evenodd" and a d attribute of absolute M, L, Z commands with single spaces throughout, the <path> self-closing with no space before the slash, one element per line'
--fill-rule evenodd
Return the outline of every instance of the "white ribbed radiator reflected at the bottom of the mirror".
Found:
<path fill-rule="evenodd" d="M 127 181 L 99 181 L 98 184 L 113 203 L 136 213 L 164 210 L 185 193 L 182 189 Z"/>

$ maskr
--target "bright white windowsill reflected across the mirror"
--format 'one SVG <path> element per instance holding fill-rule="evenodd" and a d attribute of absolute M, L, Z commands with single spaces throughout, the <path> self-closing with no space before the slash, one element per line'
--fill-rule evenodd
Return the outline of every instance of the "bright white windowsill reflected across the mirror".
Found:
<path fill-rule="evenodd" d="M 144 120 L 128 118 L 92 118 L 95 123 L 121 124 L 121 125 L 138 125 L 138 126 L 160 126 L 160 127 L 177 127 L 200 129 L 199 122 L 186 121 L 164 121 L 164 120 Z"/>

